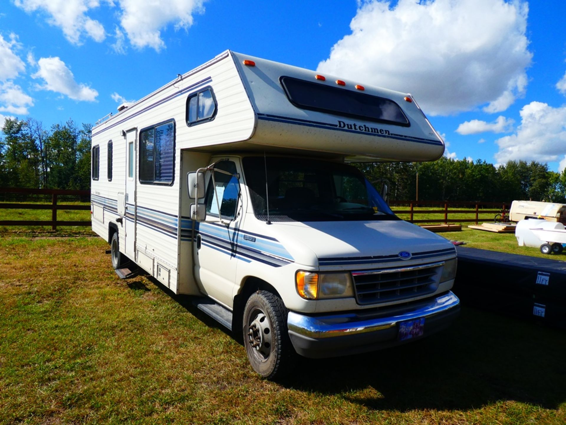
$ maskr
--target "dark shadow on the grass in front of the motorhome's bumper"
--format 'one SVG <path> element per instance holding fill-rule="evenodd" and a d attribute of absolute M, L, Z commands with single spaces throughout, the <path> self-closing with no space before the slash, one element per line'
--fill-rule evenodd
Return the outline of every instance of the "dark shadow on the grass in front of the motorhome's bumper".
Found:
<path fill-rule="evenodd" d="M 564 352 L 560 330 L 464 307 L 444 332 L 363 355 L 301 359 L 280 384 L 376 410 L 466 410 L 505 400 L 557 409 L 566 400 Z"/>

